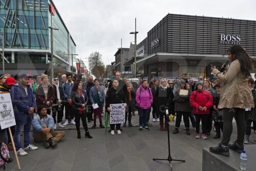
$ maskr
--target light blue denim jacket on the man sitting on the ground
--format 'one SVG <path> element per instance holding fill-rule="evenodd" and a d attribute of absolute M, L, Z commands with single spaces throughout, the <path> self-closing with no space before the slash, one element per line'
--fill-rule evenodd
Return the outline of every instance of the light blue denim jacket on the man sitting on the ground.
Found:
<path fill-rule="evenodd" d="M 43 129 L 42 125 L 46 125 L 47 127 L 51 128 L 51 131 L 54 131 L 53 117 L 51 115 L 46 114 L 46 117 L 40 118 L 39 114 L 37 114 L 32 121 L 33 132 L 41 132 L 41 130 Z"/>

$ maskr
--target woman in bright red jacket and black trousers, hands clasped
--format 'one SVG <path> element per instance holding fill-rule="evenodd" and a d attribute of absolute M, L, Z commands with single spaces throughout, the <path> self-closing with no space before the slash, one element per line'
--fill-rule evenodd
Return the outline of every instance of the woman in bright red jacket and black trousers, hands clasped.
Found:
<path fill-rule="evenodd" d="M 196 83 L 195 88 L 196 91 L 191 93 L 189 102 L 196 117 L 196 138 L 200 138 L 200 121 L 202 120 L 202 138 L 207 139 L 205 126 L 212 106 L 212 96 L 210 92 L 203 90 L 203 83 L 200 81 Z"/>

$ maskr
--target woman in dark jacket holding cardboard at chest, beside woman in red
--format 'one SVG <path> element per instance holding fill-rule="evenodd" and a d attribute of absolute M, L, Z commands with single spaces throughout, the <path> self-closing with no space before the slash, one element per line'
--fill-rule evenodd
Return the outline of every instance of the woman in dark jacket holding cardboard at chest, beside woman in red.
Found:
<path fill-rule="evenodd" d="M 181 94 L 181 90 L 185 90 L 187 94 Z M 191 91 L 190 88 L 187 89 L 185 80 L 180 80 L 180 85 L 175 92 L 175 111 L 176 111 L 176 121 L 175 121 L 175 130 L 173 134 L 179 133 L 180 122 L 183 116 L 183 121 L 185 123 L 186 134 L 190 135 L 189 132 L 189 115 L 191 112 L 191 105 L 189 104 L 189 97 Z"/>

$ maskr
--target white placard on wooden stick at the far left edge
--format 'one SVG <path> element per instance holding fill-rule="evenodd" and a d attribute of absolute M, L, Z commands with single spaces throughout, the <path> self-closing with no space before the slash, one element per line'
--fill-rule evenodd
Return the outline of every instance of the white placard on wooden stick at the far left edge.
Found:
<path fill-rule="evenodd" d="M 16 125 L 9 93 L 0 94 L 0 125 L 1 129 Z"/>

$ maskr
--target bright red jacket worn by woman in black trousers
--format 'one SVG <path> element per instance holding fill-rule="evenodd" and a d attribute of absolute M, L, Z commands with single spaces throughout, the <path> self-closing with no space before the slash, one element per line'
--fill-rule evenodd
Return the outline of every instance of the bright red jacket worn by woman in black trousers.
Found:
<path fill-rule="evenodd" d="M 201 92 L 194 91 L 190 95 L 189 102 L 193 107 L 194 114 L 209 114 L 210 108 L 212 106 L 212 96 L 210 92 L 205 90 L 202 90 Z M 199 106 L 201 106 L 202 108 L 206 106 L 207 110 L 200 111 Z"/>

